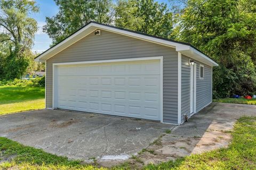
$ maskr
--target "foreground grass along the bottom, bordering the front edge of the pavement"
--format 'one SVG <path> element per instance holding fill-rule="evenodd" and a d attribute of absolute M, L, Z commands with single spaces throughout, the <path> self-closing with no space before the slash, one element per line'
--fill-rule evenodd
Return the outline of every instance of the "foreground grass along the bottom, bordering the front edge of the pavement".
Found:
<path fill-rule="evenodd" d="M 256 117 L 239 118 L 230 133 L 233 140 L 227 148 L 191 155 L 175 162 L 147 165 L 142 169 L 256 169 Z M 0 169 L 107 169 L 25 147 L 3 137 L 0 137 L 0 151 L 0 162 L 1 158 L 7 160 L 0 164 Z M 111 169 L 134 169 L 131 167 L 126 163 Z"/>

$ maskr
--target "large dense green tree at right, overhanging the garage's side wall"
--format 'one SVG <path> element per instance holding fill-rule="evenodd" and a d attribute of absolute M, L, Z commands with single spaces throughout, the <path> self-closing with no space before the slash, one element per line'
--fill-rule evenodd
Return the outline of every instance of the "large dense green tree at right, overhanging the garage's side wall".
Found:
<path fill-rule="evenodd" d="M 255 6 L 251 0 L 189 0 L 179 18 L 173 35 L 220 64 L 213 71 L 214 97 L 256 90 Z"/>

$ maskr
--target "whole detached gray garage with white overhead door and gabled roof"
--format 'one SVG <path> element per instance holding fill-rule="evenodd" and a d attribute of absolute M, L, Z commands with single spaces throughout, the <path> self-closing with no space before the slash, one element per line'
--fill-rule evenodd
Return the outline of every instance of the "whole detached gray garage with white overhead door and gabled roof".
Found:
<path fill-rule="evenodd" d="M 90 22 L 35 58 L 46 108 L 181 124 L 212 102 L 212 67 L 195 47 Z"/>

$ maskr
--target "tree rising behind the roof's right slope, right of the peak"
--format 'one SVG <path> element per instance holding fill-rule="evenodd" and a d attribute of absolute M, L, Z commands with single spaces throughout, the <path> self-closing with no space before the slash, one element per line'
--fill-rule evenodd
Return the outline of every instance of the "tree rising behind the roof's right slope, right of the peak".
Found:
<path fill-rule="evenodd" d="M 164 3 L 154 0 L 119 1 L 115 25 L 150 35 L 171 38 L 173 15 Z"/>

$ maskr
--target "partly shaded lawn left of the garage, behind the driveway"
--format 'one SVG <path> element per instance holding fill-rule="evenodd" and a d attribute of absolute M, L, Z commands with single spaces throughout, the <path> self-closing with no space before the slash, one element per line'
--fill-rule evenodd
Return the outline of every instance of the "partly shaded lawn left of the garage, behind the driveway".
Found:
<path fill-rule="evenodd" d="M 44 108 L 44 91 L 43 87 L 0 87 L 0 115 Z"/>

